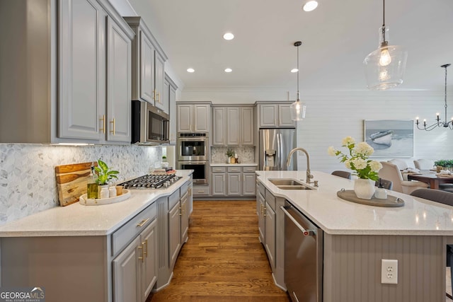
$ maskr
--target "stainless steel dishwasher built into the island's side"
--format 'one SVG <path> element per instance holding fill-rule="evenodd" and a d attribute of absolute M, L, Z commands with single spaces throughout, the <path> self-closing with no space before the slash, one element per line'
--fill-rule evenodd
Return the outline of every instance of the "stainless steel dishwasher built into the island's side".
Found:
<path fill-rule="evenodd" d="M 323 231 L 285 201 L 285 284 L 293 302 L 323 301 Z"/>

